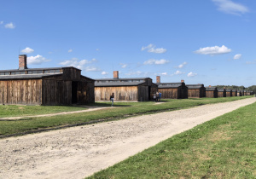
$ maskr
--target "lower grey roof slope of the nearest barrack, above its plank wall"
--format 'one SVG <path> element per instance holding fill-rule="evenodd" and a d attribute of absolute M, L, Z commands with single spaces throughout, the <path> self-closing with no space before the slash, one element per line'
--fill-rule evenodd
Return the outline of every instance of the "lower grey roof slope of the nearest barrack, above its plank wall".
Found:
<path fill-rule="evenodd" d="M 21 74 L 21 75 L 0 75 L 0 79 L 28 79 L 28 78 L 44 78 L 50 76 L 61 75 L 62 73 L 51 74 Z"/>

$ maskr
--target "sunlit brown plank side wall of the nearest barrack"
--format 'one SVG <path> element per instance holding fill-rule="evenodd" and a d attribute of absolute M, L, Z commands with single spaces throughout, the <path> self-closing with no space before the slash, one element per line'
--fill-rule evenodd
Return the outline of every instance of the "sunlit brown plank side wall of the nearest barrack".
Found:
<path fill-rule="evenodd" d="M 42 79 L 1 80 L 1 104 L 41 104 Z"/>

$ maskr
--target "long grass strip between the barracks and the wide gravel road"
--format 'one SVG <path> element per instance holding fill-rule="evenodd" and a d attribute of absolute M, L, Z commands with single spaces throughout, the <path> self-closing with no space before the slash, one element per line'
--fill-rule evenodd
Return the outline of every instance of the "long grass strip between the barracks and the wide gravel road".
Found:
<path fill-rule="evenodd" d="M 55 128 L 59 126 L 66 126 L 71 124 L 85 124 L 88 122 L 97 121 L 99 119 L 117 120 L 121 118 L 128 118 L 134 115 L 143 115 L 148 113 L 160 113 L 163 111 L 177 110 L 187 107 L 201 106 L 209 103 L 235 101 L 252 96 L 229 97 L 229 98 L 201 98 L 201 99 L 184 99 L 184 100 L 164 100 L 162 104 L 155 105 L 155 102 L 114 102 L 113 108 L 103 109 L 95 112 L 76 113 L 58 115 L 53 117 L 28 118 L 24 117 L 20 120 L 1 121 L 0 120 L 0 136 L 13 135 L 32 130 L 42 130 L 46 128 Z M 93 106 L 108 106 L 110 102 L 100 102 L 93 104 Z M 12 106 L 6 106 L 12 107 Z M 14 106 L 15 107 L 15 106 Z M 35 106 L 36 107 L 36 106 Z M 37 110 L 32 110 L 37 114 L 40 111 L 40 106 Z M 19 107 L 17 107 L 19 108 Z M 44 108 L 44 107 L 42 107 Z M 49 107 L 51 108 L 51 107 Z M 54 107 L 52 107 L 54 108 Z M 68 108 L 68 107 L 67 107 Z M 73 107 L 70 107 L 73 109 Z M 79 107 L 77 107 L 79 108 Z M 14 110 L 15 111 L 15 110 Z M 3 112 L 1 112 L 3 113 Z M 15 112 L 15 115 L 18 112 Z M 31 114 L 31 113 L 26 113 Z"/>

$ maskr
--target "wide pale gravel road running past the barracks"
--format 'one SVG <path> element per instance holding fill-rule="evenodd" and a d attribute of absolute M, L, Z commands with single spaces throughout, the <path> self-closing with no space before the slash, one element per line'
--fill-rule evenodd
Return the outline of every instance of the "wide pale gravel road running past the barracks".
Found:
<path fill-rule="evenodd" d="M 0 139 L 0 178 L 84 178 L 255 101 L 248 98 Z"/>

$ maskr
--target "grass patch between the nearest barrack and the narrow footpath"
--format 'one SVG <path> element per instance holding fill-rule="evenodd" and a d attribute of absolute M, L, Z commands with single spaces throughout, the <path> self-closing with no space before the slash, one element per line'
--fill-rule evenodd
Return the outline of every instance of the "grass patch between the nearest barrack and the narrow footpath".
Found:
<path fill-rule="evenodd" d="M 71 112 L 84 109 L 86 109 L 86 107 L 1 105 L 0 118 L 38 115 L 46 113 Z"/>

